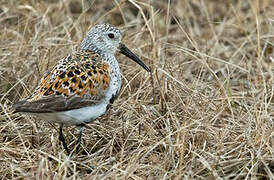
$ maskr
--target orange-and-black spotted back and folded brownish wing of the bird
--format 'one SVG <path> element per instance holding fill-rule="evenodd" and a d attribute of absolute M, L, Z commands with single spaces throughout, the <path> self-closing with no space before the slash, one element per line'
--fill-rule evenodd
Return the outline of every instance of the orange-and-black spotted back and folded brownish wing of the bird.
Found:
<path fill-rule="evenodd" d="M 91 51 L 69 55 L 45 73 L 29 98 L 14 104 L 15 112 L 60 112 L 92 106 L 105 98 L 110 67 Z"/>

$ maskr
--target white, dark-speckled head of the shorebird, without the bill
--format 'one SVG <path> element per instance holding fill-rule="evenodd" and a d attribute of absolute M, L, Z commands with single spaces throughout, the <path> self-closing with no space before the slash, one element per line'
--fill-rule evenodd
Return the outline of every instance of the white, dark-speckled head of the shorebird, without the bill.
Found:
<path fill-rule="evenodd" d="M 92 50 L 99 54 L 114 54 L 121 42 L 121 31 L 109 24 L 92 27 L 81 43 L 81 50 Z"/>

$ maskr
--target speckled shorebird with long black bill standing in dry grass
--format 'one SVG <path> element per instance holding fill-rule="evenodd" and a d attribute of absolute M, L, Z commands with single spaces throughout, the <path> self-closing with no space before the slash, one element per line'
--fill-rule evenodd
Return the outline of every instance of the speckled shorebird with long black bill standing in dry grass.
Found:
<path fill-rule="evenodd" d="M 110 24 L 89 29 L 79 50 L 59 60 L 44 73 L 34 92 L 13 104 L 14 113 L 27 113 L 59 124 L 59 140 L 70 154 L 64 126 L 79 127 L 79 152 L 86 124 L 106 113 L 121 88 L 121 75 L 115 53 L 119 52 L 151 72 L 125 44 L 122 32 Z"/>

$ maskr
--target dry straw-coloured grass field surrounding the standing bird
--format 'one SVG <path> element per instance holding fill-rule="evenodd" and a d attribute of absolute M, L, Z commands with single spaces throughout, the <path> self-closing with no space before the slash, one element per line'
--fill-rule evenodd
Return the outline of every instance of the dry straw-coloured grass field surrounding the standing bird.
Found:
<path fill-rule="evenodd" d="M 69 157 L 11 106 L 106 22 L 152 72 L 117 54 L 121 93 Z M 271 0 L 1 0 L 1 179 L 274 179 L 273 42 Z"/>

